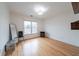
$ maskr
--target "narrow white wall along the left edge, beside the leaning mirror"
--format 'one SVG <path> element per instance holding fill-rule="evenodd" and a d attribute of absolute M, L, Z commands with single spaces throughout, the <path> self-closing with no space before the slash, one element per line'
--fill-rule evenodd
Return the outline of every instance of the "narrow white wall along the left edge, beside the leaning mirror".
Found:
<path fill-rule="evenodd" d="M 6 4 L 0 3 L 0 55 L 9 39 L 9 11 Z"/>

